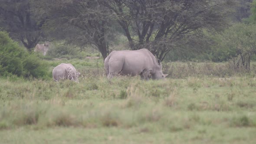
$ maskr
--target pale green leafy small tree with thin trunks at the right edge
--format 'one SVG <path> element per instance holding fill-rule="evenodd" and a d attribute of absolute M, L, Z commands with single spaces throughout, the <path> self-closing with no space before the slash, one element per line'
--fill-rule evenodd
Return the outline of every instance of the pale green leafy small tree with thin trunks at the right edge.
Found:
<path fill-rule="evenodd" d="M 251 58 L 256 53 L 255 24 L 237 23 L 218 37 L 220 38 L 219 46 L 223 51 L 229 51 L 234 68 L 249 70 Z"/>

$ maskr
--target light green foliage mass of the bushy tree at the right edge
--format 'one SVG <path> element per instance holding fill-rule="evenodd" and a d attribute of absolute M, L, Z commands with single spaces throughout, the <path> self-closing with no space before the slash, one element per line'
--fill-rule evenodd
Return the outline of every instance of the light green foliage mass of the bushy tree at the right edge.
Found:
<path fill-rule="evenodd" d="M 212 61 L 233 60 L 234 68 L 249 69 L 250 60 L 256 52 L 256 26 L 236 23 L 214 38 L 216 43 L 210 52 Z"/>

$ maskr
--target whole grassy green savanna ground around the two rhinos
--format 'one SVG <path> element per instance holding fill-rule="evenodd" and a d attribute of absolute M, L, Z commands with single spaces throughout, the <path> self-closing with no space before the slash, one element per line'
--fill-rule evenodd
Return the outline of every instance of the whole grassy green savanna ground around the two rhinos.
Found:
<path fill-rule="evenodd" d="M 256 142 L 254 62 L 249 73 L 228 63 L 164 63 L 162 81 L 108 81 L 95 56 L 47 62 L 49 73 L 72 63 L 79 83 L 1 77 L 1 144 Z"/>

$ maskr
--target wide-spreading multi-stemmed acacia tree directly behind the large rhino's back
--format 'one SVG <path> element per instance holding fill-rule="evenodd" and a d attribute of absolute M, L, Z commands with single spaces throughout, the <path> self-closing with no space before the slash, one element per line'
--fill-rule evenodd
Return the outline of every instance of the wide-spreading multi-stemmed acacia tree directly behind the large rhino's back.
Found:
<path fill-rule="evenodd" d="M 161 61 L 191 36 L 228 26 L 234 0 L 108 0 L 132 50 L 147 48 Z"/>

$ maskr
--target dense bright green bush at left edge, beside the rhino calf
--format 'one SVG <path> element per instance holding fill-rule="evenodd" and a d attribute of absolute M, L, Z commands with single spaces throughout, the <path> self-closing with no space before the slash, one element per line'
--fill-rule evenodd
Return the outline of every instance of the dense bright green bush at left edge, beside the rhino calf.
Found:
<path fill-rule="evenodd" d="M 0 75 L 46 78 L 47 72 L 46 63 L 21 48 L 7 32 L 0 31 Z"/>

